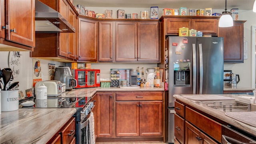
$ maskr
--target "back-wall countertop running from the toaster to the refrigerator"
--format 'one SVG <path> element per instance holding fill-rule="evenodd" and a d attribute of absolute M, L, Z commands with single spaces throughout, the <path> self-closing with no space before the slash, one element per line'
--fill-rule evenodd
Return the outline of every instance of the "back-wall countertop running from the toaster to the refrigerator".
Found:
<path fill-rule="evenodd" d="M 122 92 L 122 91 L 164 91 L 164 88 L 118 88 L 118 87 L 98 87 L 98 88 L 75 88 L 71 91 L 66 91 L 58 97 L 90 97 L 96 92 Z"/>

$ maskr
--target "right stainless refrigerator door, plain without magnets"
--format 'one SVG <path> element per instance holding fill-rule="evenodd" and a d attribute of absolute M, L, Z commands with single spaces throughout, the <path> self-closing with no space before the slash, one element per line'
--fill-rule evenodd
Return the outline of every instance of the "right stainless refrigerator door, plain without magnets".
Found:
<path fill-rule="evenodd" d="M 198 37 L 197 92 L 223 94 L 223 37 Z"/>

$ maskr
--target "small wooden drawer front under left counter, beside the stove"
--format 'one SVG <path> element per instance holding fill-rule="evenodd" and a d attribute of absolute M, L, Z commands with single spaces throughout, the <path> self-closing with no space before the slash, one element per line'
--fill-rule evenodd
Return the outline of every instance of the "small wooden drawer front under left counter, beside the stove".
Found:
<path fill-rule="evenodd" d="M 76 133 L 76 121 L 72 118 L 60 132 L 63 138 L 63 144 L 69 144 Z"/>

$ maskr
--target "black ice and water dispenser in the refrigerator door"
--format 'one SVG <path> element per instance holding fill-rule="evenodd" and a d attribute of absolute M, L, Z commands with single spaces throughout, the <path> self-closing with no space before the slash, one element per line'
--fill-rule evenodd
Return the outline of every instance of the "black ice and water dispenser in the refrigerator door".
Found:
<path fill-rule="evenodd" d="M 174 63 L 174 86 L 190 84 L 190 62 Z"/>

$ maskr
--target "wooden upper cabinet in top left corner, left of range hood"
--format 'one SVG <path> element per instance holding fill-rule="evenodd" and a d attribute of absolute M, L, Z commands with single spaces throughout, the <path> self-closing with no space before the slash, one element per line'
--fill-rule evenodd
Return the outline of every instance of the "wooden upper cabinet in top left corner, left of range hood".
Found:
<path fill-rule="evenodd" d="M 1 0 L 0 51 L 33 51 L 35 1 Z M 26 12 L 24 14 L 23 12 Z"/>

